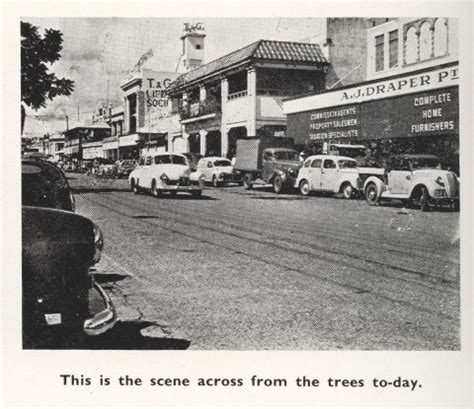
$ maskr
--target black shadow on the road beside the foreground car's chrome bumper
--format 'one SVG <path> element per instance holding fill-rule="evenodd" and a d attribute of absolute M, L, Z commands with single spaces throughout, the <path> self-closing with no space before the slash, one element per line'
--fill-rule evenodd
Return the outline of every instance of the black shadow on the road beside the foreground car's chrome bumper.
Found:
<path fill-rule="evenodd" d="M 142 330 L 155 325 L 154 322 L 150 321 L 119 321 L 105 334 L 88 337 L 77 349 L 159 350 L 189 348 L 191 342 L 185 339 L 155 338 L 142 335 Z"/>

